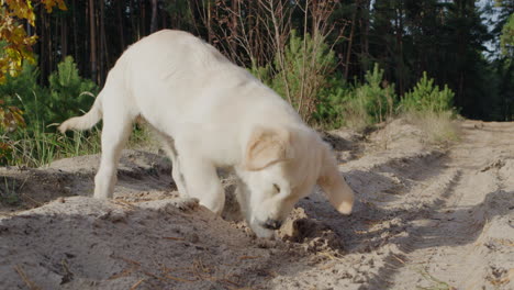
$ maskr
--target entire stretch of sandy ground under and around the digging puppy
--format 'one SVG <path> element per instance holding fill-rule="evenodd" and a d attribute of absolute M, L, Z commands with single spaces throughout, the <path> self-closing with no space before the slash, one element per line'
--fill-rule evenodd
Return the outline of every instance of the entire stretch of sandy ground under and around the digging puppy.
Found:
<path fill-rule="evenodd" d="M 514 289 L 514 124 L 460 126 L 331 132 L 355 212 L 316 191 L 278 241 L 178 198 L 160 155 L 124 152 L 114 201 L 90 198 L 98 156 L 1 168 L 0 289 Z"/>

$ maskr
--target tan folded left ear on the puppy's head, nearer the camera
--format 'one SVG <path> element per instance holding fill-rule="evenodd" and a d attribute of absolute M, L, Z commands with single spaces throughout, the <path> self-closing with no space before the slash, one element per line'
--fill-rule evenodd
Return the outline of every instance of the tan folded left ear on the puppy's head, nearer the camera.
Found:
<path fill-rule="evenodd" d="M 245 169 L 260 170 L 291 158 L 290 140 L 291 135 L 284 129 L 255 127 L 246 145 Z"/>

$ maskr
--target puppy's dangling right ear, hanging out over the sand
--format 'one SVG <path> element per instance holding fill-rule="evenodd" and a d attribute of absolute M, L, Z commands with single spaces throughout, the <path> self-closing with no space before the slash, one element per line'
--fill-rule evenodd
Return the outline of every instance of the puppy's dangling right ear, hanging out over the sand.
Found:
<path fill-rule="evenodd" d="M 337 163 L 326 144 L 322 144 L 321 170 L 317 185 L 323 189 L 332 205 L 343 214 L 350 214 L 354 207 L 354 191 L 346 183 Z"/>

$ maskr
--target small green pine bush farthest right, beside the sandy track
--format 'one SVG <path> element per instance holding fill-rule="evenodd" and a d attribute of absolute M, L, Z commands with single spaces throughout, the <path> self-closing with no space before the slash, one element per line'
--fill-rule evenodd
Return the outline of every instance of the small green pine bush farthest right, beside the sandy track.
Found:
<path fill-rule="evenodd" d="M 434 79 L 428 79 L 426 71 L 417 81 L 412 91 L 403 96 L 400 102 L 402 111 L 451 111 L 455 93 L 445 85 L 442 90 L 439 86 L 434 86 Z"/>

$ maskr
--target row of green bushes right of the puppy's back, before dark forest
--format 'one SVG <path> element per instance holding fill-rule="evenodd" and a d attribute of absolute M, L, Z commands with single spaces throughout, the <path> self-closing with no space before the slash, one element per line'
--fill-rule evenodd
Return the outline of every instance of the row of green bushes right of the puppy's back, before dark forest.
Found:
<path fill-rule="evenodd" d="M 323 37 L 306 35 L 302 40 L 294 32 L 282 57 L 281 63 L 275 59 L 250 71 L 315 127 L 365 131 L 392 118 L 405 118 L 431 142 L 458 138 L 454 92 L 447 86 L 439 89 L 426 72 L 404 96 L 395 93 L 394 83 L 386 80 L 378 64 L 366 72 L 364 81 L 347 82 L 340 74 L 333 74 L 337 62 Z"/>

